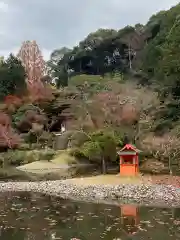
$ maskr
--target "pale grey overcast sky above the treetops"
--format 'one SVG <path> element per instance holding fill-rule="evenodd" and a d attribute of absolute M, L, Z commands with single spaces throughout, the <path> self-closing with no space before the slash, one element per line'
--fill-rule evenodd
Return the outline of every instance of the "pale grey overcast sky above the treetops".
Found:
<path fill-rule="evenodd" d="M 72 47 L 98 28 L 146 23 L 178 0 L 0 0 L 0 55 L 16 53 L 24 40 L 36 40 L 45 59 Z"/>

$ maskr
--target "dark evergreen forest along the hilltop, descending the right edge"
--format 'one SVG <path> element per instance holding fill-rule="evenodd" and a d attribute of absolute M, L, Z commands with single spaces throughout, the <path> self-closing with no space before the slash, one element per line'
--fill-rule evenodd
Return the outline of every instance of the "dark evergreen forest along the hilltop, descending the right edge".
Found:
<path fill-rule="evenodd" d="M 140 84 L 151 85 L 161 101 L 170 97 L 162 117 L 177 121 L 179 13 L 178 4 L 153 15 L 144 26 L 136 24 L 118 31 L 99 29 L 72 50 L 55 50 L 49 64 L 57 86 L 67 85 L 68 80 L 70 84 L 71 77 L 79 74 L 103 77 L 109 73 L 112 77 L 123 73 L 129 79 L 135 77 Z"/>

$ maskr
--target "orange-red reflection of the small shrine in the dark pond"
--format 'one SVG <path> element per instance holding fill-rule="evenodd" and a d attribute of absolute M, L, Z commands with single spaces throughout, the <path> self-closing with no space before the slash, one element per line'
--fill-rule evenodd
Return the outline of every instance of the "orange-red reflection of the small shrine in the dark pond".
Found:
<path fill-rule="evenodd" d="M 136 206 L 121 206 L 121 224 L 127 234 L 135 234 L 138 231 L 139 212 Z"/>

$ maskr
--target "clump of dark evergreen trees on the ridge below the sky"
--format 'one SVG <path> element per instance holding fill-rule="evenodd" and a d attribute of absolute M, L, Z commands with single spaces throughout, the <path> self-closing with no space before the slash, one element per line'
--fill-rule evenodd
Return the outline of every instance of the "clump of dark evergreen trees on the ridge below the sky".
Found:
<path fill-rule="evenodd" d="M 144 46 L 149 35 L 151 29 L 146 30 L 141 25 L 127 26 L 119 31 L 99 29 L 72 50 L 55 50 L 49 66 L 57 86 L 67 85 L 69 77 L 77 74 L 104 76 L 109 72 L 127 71 L 131 68 L 136 51 Z"/>

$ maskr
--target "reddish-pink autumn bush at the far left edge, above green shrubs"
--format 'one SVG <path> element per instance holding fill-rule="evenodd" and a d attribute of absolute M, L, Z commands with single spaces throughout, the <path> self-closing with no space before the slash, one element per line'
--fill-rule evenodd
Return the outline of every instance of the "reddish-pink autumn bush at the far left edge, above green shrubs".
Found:
<path fill-rule="evenodd" d="M 21 143 L 21 138 L 11 127 L 10 117 L 0 112 L 0 148 L 16 148 Z"/>

